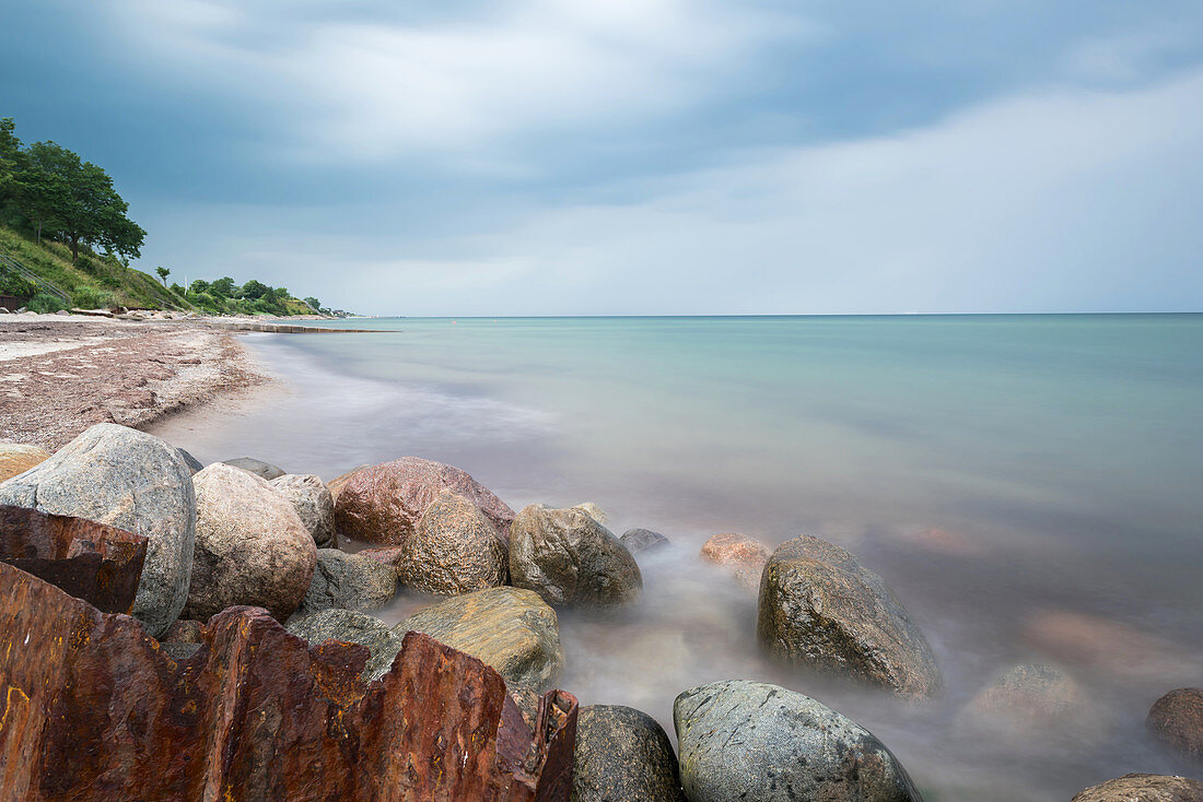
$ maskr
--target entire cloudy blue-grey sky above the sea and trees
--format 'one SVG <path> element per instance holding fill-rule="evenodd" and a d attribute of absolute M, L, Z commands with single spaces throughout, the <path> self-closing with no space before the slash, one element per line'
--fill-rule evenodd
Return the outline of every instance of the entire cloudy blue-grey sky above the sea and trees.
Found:
<path fill-rule="evenodd" d="M 8 2 L 140 267 L 367 314 L 1203 310 L 1199 0 Z"/>

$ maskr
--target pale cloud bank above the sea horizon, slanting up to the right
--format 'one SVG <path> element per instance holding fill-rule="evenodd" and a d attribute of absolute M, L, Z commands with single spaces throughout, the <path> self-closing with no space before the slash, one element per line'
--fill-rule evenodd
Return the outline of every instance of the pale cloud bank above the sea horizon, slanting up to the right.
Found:
<path fill-rule="evenodd" d="M 1048 90 L 895 136 L 752 153 L 642 185 L 636 202 L 384 246 L 422 257 L 320 233 L 232 253 L 267 277 L 320 274 L 338 253 L 325 295 L 375 314 L 1199 309 L 1201 101 L 1203 71 Z"/>

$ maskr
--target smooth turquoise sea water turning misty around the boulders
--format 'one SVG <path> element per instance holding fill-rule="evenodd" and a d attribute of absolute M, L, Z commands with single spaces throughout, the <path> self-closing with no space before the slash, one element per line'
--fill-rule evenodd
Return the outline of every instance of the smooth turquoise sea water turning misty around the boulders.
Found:
<path fill-rule="evenodd" d="M 290 393 L 158 432 L 203 461 L 327 480 L 417 455 L 515 509 L 593 501 L 616 534 L 664 533 L 675 548 L 641 559 L 638 610 L 561 614 L 561 684 L 582 703 L 633 705 L 671 733 L 681 690 L 769 679 L 877 733 L 929 800 L 1197 773 L 1143 719 L 1203 684 L 1203 315 L 355 325 L 381 331 L 248 337 Z M 855 553 L 928 634 L 944 693 L 902 705 L 763 661 L 754 595 L 697 559 L 721 531 Z M 965 737 L 960 707 L 1023 661 L 1074 676 L 1089 721 Z"/>

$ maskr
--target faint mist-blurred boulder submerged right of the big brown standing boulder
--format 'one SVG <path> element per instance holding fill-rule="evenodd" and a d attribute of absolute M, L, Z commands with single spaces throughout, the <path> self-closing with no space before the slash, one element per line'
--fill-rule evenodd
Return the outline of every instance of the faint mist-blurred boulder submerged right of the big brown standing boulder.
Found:
<path fill-rule="evenodd" d="M 1081 687 L 1054 666 L 1020 665 L 971 699 L 958 725 L 1014 742 L 1041 744 L 1032 732 L 1072 736 L 1083 742 L 1097 730 L 1097 713 Z"/>

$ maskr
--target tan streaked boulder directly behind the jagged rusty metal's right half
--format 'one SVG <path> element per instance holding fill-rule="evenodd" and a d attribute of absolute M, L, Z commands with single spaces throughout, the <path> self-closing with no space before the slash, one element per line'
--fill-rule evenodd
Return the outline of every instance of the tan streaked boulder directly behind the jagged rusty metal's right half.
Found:
<path fill-rule="evenodd" d="M 538 594 L 491 588 L 448 599 L 393 628 L 426 632 L 497 670 L 506 683 L 546 690 L 564 667 L 556 611 Z"/>

